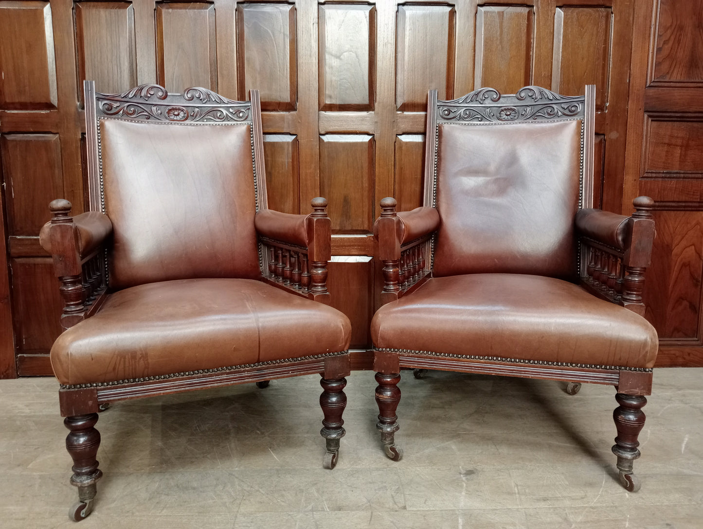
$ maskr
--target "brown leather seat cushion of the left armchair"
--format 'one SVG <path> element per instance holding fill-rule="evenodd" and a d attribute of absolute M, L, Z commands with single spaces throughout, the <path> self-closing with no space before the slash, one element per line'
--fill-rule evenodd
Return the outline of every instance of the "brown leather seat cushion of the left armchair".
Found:
<path fill-rule="evenodd" d="M 174 280 L 110 294 L 51 365 L 61 384 L 117 381 L 345 351 L 350 332 L 340 311 L 260 281 Z"/>

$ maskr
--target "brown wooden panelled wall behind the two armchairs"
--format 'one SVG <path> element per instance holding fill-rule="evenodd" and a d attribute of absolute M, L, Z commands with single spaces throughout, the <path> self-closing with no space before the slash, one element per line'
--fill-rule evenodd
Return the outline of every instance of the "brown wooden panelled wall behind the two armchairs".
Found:
<path fill-rule="evenodd" d="M 661 44 L 647 82 L 695 89 L 702 78 L 700 56 L 688 70 L 673 71 L 678 42 L 672 34 L 696 31 L 695 9 L 681 6 L 699 2 L 661 3 L 668 8 L 657 16 L 666 28 L 657 42 L 669 47 Z M 647 113 L 647 172 L 641 180 L 638 175 L 624 181 L 630 174 L 625 155 L 632 43 L 642 34 L 647 38 L 650 24 L 636 4 L 0 0 L 0 375 L 13 376 L 15 360 L 19 374 L 50 372 L 46 353 L 59 333 L 60 302 L 37 233 L 53 198 L 84 207 L 83 79 L 94 79 L 101 92 L 157 82 L 169 91 L 205 86 L 244 99 L 250 88 L 259 89 L 269 206 L 305 213 L 311 197 L 328 198 L 334 228 L 330 290 L 335 305 L 352 318 L 352 346 L 361 351 L 370 346 L 368 325 L 380 287 L 371 235 L 378 202 L 393 195 L 401 209 L 421 203 L 427 90 L 449 99 L 480 86 L 513 93 L 537 84 L 576 95 L 593 83 L 595 204 L 621 211 L 637 183 L 667 204 L 657 211 L 657 252 L 665 254 L 664 246 L 673 244 L 681 256 L 659 256 L 653 268 L 674 277 L 672 267 L 690 263 L 685 273 L 697 283 L 695 292 L 685 294 L 671 282 L 650 286 L 650 317 L 664 341 L 685 338 L 700 345 L 699 320 L 693 319 L 700 316 L 703 198 L 688 185 L 703 171 L 699 115 Z M 701 53 L 700 47 L 689 52 Z M 689 154 L 680 150 L 684 144 Z M 662 172 L 671 169 L 662 162 L 669 163 L 674 152 L 676 181 L 660 183 Z M 626 184 L 631 194 L 624 200 Z M 670 207 L 673 200 L 686 205 Z M 690 239 L 690 230 L 698 230 L 697 242 L 676 246 Z M 681 313 L 688 319 L 676 323 Z M 364 367 L 364 358 L 368 354 L 356 356 L 356 367 Z"/>

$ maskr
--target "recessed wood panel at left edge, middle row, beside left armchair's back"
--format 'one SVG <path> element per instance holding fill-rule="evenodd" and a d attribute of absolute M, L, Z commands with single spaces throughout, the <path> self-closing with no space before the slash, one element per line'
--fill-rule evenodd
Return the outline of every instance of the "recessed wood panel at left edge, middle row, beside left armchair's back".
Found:
<path fill-rule="evenodd" d="M 0 138 L 7 235 L 39 235 L 49 202 L 63 197 L 58 134 L 6 134 Z"/>

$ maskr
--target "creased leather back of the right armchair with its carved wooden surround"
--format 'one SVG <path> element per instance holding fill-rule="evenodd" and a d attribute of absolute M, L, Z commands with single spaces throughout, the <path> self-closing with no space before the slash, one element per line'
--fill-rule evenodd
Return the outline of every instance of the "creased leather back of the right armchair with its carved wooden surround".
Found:
<path fill-rule="evenodd" d="M 584 153 L 593 152 L 594 94 L 532 86 L 453 101 L 430 94 L 425 206 L 442 220 L 435 277 L 575 278 L 574 214 L 591 207 L 593 195 L 593 156 Z"/>

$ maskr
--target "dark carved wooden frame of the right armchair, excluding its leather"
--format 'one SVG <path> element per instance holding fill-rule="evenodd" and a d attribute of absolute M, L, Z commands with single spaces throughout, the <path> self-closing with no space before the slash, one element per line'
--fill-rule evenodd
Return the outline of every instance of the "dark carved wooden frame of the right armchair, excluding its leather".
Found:
<path fill-rule="evenodd" d="M 582 119 L 580 209 L 593 207 L 593 126 L 595 121 L 595 86 L 586 86 L 584 96 L 567 97 L 538 86 L 526 86 L 515 95 L 501 96 L 494 89 L 484 88 L 451 101 L 437 100 L 437 91 L 430 91 L 427 102 L 427 142 L 425 151 L 424 206 L 436 207 L 438 124 L 466 122 L 531 122 L 559 119 Z M 633 201 L 635 212 L 627 219 L 624 248 L 613 247 L 602 240 L 578 233 L 576 256 L 579 284 L 600 299 L 617 303 L 643 315 L 642 292 L 645 270 L 650 265 L 654 241 L 654 220 L 649 197 Z M 381 304 L 411 294 L 432 277 L 432 259 L 436 231 L 401 244 L 396 200 L 387 197 L 380 202 L 382 213 L 375 223 L 378 256 L 382 262 L 384 285 Z M 600 213 L 600 211 L 598 211 Z M 639 490 L 640 482 L 633 474 L 633 461 L 640 457 L 638 434 L 645 424 L 642 407 L 652 391 L 652 369 L 617 366 L 548 363 L 541 361 L 509 361 L 477 355 L 442 355 L 425 351 L 375 349 L 374 370 L 378 382 L 378 430 L 386 455 L 394 460 L 402 457 L 394 434 L 398 431 L 396 408 L 400 400 L 401 368 L 446 370 L 465 373 L 498 374 L 567 381 L 567 392 L 579 391 L 581 382 L 608 384 L 617 389 L 619 406 L 613 418 L 617 437 L 612 452 L 622 485 L 629 491 Z M 415 371 L 416 377 L 423 372 Z"/>

